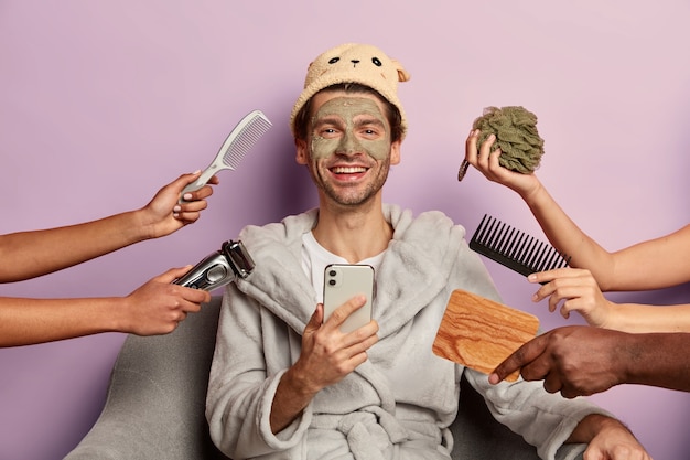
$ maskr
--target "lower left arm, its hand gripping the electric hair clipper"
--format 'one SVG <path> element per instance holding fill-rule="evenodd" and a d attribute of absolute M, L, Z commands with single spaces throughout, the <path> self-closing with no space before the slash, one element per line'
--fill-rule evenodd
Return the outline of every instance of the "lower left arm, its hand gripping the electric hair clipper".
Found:
<path fill-rule="evenodd" d="M 188 271 L 173 268 L 127 297 L 90 299 L 0 298 L 0 346 L 29 345 L 100 332 L 154 335 L 172 332 L 211 295 L 171 282 Z"/>

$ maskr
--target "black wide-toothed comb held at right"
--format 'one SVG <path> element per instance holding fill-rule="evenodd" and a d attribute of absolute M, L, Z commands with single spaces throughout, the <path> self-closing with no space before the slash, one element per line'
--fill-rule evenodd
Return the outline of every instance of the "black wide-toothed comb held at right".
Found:
<path fill-rule="evenodd" d="M 487 214 L 474 232 L 470 248 L 525 276 L 561 268 L 570 261 L 553 246 Z"/>

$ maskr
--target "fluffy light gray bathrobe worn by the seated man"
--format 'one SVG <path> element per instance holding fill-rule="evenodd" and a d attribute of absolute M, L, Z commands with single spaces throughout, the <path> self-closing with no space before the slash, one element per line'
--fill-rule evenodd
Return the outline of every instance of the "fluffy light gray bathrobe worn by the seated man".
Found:
<path fill-rule="evenodd" d="M 235 460 L 449 459 L 448 427 L 463 376 L 496 419 L 537 446 L 543 459 L 554 458 L 584 416 L 606 414 L 585 399 L 548 394 L 541 383 L 493 386 L 486 375 L 435 356 L 432 343 L 454 289 L 500 299 L 462 226 L 440 212 L 417 218 L 392 205 L 384 212 L 395 232 L 376 275 L 379 342 L 367 362 L 321 391 L 277 435 L 269 424 L 273 395 L 300 355 L 316 304 L 302 269 L 302 235 L 317 211 L 241 232 L 256 269 L 226 288 L 206 400 L 211 436 L 222 451 Z"/>

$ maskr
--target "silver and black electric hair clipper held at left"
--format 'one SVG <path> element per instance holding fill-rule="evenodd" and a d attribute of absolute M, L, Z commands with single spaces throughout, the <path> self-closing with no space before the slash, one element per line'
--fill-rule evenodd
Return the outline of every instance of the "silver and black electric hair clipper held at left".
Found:
<path fill-rule="evenodd" d="M 211 291 L 233 282 L 237 277 L 247 278 L 255 264 L 242 242 L 227 240 L 220 250 L 209 254 L 182 278 L 173 281 L 187 288 Z"/>

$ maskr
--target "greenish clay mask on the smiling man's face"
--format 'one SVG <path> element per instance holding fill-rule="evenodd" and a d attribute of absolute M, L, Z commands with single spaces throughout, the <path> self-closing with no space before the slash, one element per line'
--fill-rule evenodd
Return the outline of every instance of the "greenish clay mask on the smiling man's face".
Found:
<path fill-rule="evenodd" d="M 366 152 L 385 160 L 390 152 L 390 129 L 378 105 L 366 97 L 336 97 L 312 118 L 312 157 Z M 339 131 L 333 135 L 331 129 Z"/>

